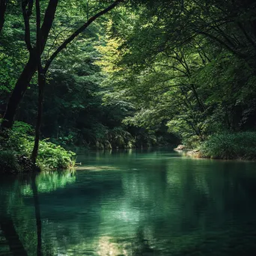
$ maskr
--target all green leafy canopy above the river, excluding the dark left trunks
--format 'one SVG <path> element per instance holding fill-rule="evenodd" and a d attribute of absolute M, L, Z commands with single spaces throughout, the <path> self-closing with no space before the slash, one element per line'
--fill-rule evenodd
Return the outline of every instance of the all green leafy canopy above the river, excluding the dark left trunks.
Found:
<path fill-rule="evenodd" d="M 85 16 L 110 2 L 61 1 L 43 62 Z M 47 1 L 41 4 L 43 13 Z M 43 138 L 62 146 L 144 147 L 162 144 L 170 138 L 168 129 L 171 141 L 196 147 L 215 133 L 255 130 L 254 8 L 253 1 L 141 0 L 97 19 L 52 62 Z M 0 46 L 1 113 L 28 58 L 23 30 L 18 6 L 7 10 Z M 32 80 L 18 120 L 34 124 L 36 108 Z M 14 133 L 26 136 L 14 136 L 19 142 L 10 143 L 28 154 L 31 148 L 23 145 L 32 144 L 32 130 L 26 124 L 16 123 Z M 55 159 L 49 165 L 64 162 Z"/>

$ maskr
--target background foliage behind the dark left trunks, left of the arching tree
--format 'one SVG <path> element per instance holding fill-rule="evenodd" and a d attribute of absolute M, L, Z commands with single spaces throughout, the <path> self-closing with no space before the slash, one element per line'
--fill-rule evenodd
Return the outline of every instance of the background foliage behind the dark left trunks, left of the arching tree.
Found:
<path fill-rule="evenodd" d="M 40 3 L 42 13 L 46 10 L 47 3 L 48 1 Z M 73 0 L 60 1 L 42 55 L 43 63 L 64 38 L 85 22 L 87 15 L 94 15 L 110 3 L 112 1 L 84 3 Z M 19 7 L 19 4 L 16 4 L 13 10 L 7 10 L 4 33 L 1 37 L 0 58 L 4 60 L 0 68 L 1 115 L 6 109 L 10 91 L 28 59 L 24 42 L 23 18 Z M 128 8 L 132 11 L 129 4 Z M 118 47 L 124 43 L 124 40 L 118 39 L 118 36 L 129 34 L 130 28 L 135 25 L 135 20 L 141 13 L 141 10 L 137 9 L 135 13 L 131 12 L 128 15 L 127 10 L 123 6 L 113 10 L 108 16 L 97 19 L 52 62 L 46 80 L 43 104 L 41 126 L 43 138 L 50 138 L 50 141 L 64 147 L 73 146 L 73 144 L 92 148 L 135 147 L 136 145 L 141 147 L 141 144 L 155 144 L 154 139 L 151 140 L 150 137 L 156 135 L 150 134 L 148 129 L 144 129 L 143 135 L 140 132 L 136 133 L 139 129 L 132 128 L 133 131 L 129 132 L 133 124 L 124 125 L 122 121 L 135 112 L 133 103 L 127 99 L 121 99 L 119 93 L 115 94 L 112 91 L 112 85 L 109 86 L 109 83 L 103 86 L 110 77 L 109 73 L 124 70 L 122 67 L 118 69 L 115 66 L 120 52 Z M 30 19 L 32 45 L 36 38 L 34 17 L 35 8 Z M 127 24 L 129 28 L 126 27 Z M 122 28 L 122 31 L 116 29 L 117 26 Z M 108 31 L 107 36 L 106 31 Z M 112 58 L 112 55 L 116 58 Z M 106 58 L 101 58 L 102 56 Z M 120 61 L 119 58 L 118 61 Z M 37 116 L 38 96 L 35 77 L 30 82 L 29 90 L 26 91 L 19 113 L 16 115 L 17 120 L 31 124 L 33 127 Z M 112 82 L 113 80 L 114 78 Z M 26 128 L 28 127 L 19 126 L 19 130 L 18 127 L 14 127 L 14 130 L 16 133 L 32 135 L 29 130 L 23 131 Z M 29 139 L 17 138 L 17 136 L 13 138 L 19 141 L 16 145 L 13 141 L 13 148 L 16 147 L 15 150 L 23 150 L 28 154 L 30 148 L 23 147 L 23 144 L 31 143 Z M 144 141 L 147 140 L 146 138 L 150 142 L 146 143 Z"/>

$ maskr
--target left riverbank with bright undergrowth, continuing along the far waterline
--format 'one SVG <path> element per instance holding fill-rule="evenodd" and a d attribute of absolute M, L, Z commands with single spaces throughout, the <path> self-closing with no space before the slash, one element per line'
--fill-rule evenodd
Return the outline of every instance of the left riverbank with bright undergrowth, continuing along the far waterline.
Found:
<path fill-rule="evenodd" d="M 51 139 L 51 141 L 50 141 Z M 70 145 L 60 145 L 58 141 L 52 142 L 52 138 L 40 140 L 36 165 L 31 162 L 31 152 L 34 147 L 34 129 L 21 121 L 13 124 L 13 129 L 7 133 L 0 134 L 0 174 L 18 174 L 34 171 L 63 170 L 74 168 L 76 165 L 76 153 L 79 148 L 87 150 L 118 150 L 121 148 L 150 147 L 152 145 L 166 145 L 168 142 L 163 138 L 156 140 L 153 144 L 150 140 L 145 140 L 141 144 L 140 140 L 134 140 L 129 144 L 124 138 L 117 141 L 108 141 L 111 145 L 97 144 L 99 147 L 71 147 Z M 62 141 L 63 142 L 63 141 Z"/>

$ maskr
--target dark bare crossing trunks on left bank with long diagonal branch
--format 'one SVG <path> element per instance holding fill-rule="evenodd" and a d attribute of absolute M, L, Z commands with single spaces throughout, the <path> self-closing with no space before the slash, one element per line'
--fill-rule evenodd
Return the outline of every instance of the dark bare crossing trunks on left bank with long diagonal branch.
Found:
<path fill-rule="evenodd" d="M 105 9 L 97 12 L 91 18 L 88 17 L 87 22 L 80 26 L 76 31 L 70 34 L 66 40 L 64 40 L 61 45 L 55 49 L 55 51 L 50 55 L 50 57 L 45 61 L 43 67 L 41 55 L 43 55 L 44 49 L 46 47 L 47 39 L 49 37 L 49 32 L 52 27 L 52 22 L 55 19 L 55 12 L 58 5 L 58 1 L 50 0 L 48 6 L 46 7 L 46 13 L 43 19 L 42 26 L 40 25 L 40 1 L 36 1 L 36 27 L 37 27 L 37 36 L 36 43 L 34 46 L 31 44 L 31 28 L 30 28 L 30 18 L 33 10 L 34 1 L 22 1 L 22 15 L 25 24 L 25 43 L 29 52 L 28 63 L 26 64 L 24 70 L 22 71 L 21 76 L 19 76 L 18 81 L 13 89 L 13 92 L 10 96 L 10 100 L 7 103 L 7 109 L 4 113 L 4 120 L 1 123 L 1 127 L 10 128 L 13 125 L 14 116 L 16 114 L 16 109 L 19 106 L 19 102 L 22 100 L 23 95 L 25 94 L 28 84 L 31 81 L 34 73 L 37 71 L 38 74 L 38 88 L 39 88 L 39 97 L 38 97 L 38 115 L 37 115 L 37 125 L 35 131 L 35 140 L 34 140 L 34 149 L 31 154 L 32 162 L 35 162 L 37 159 L 37 152 L 39 146 L 39 137 L 40 137 L 40 126 L 41 118 L 43 112 L 43 91 L 46 85 L 46 73 L 49 70 L 50 64 L 56 58 L 56 56 L 67 47 L 67 45 L 72 42 L 79 34 L 85 31 L 88 28 L 88 25 L 91 25 L 95 19 L 102 16 L 103 14 L 112 10 L 117 6 L 121 0 L 114 1 L 112 4 L 107 6 Z"/>

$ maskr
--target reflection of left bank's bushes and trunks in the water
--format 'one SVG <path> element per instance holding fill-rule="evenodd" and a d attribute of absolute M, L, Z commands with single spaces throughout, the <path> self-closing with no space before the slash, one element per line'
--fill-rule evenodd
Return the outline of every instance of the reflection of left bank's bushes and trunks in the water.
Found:
<path fill-rule="evenodd" d="M 2 177 L 0 189 L 0 237 L 2 246 L 0 255 L 40 256 L 43 255 L 43 250 L 46 252 L 44 255 L 54 255 L 49 253 L 49 248 L 52 247 L 50 243 L 42 248 L 39 193 L 52 192 L 74 181 L 74 173 L 70 171 L 49 172 L 32 176 Z M 32 197 L 33 204 L 27 207 L 23 195 Z"/>

